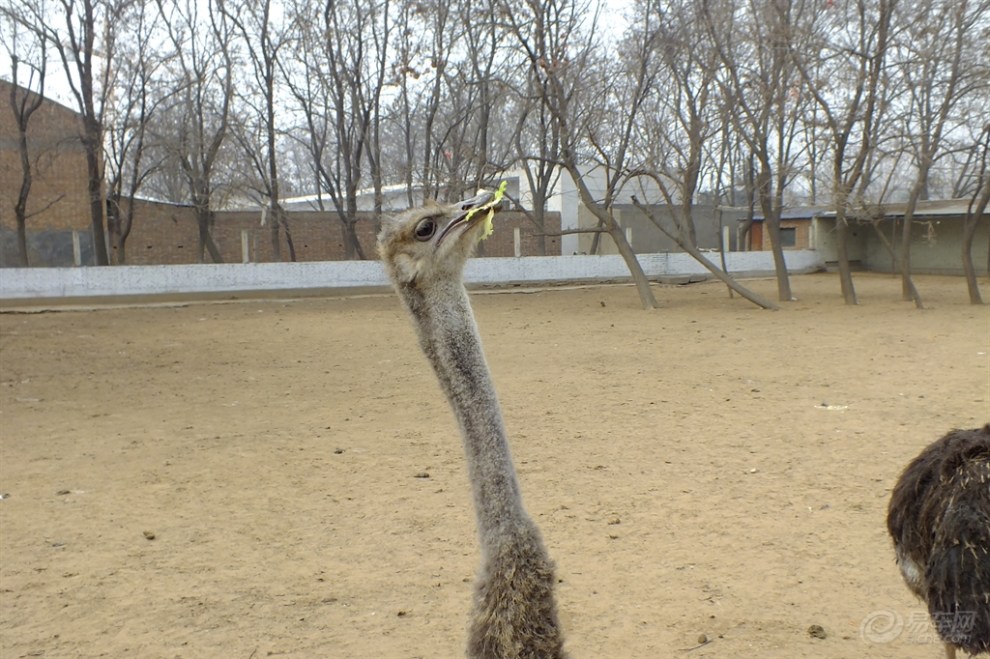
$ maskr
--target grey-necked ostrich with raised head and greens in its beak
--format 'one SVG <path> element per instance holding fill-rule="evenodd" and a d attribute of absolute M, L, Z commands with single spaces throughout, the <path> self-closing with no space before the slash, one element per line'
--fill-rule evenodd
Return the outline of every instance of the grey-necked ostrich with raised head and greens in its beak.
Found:
<path fill-rule="evenodd" d="M 471 215 L 491 193 L 385 217 L 378 251 L 409 310 L 420 347 L 457 418 L 481 543 L 467 654 L 472 659 L 565 657 L 554 566 L 526 513 L 481 349 L 464 264 L 484 232 Z"/>

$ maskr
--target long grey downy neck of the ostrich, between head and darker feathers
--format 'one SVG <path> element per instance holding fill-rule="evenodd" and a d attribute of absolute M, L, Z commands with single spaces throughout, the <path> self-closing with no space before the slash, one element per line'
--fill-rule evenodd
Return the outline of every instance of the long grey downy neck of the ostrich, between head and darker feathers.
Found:
<path fill-rule="evenodd" d="M 459 282 L 407 290 L 420 345 L 461 429 L 482 545 L 506 525 L 525 523 L 502 412 L 467 291 Z"/>

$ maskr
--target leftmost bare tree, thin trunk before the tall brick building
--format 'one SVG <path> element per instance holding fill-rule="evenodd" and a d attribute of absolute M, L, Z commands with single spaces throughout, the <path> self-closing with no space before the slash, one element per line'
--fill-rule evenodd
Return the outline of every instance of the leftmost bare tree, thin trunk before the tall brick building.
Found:
<path fill-rule="evenodd" d="M 11 17 L 8 17 L 11 18 Z M 27 219 L 28 219 L 28 199 L 31 196 L 31 184 L 34 179 L 33 159 L 31 149 L 28 145 L 28 125 L 31 117 L 41 107 L 44 101 L 45 76 L 48 67 L 47 49 L 44 39 L 35 40 L 35 57 L 31 61 L 21 61 L 21 53 L 25 48 L 22 43 L 24 38 L 30 38 L 31 32 L 20 33 L 17 21 L 11 20 L 9 41 L 4 39 L 4 46 L 10 56 L 11 62 L 11 82 L 10 86 L 10 109 L 14 113 L 14 123 L 17 125 L 17 152 L 20 156 L 21 164 L 21 184 L 17 190 L 17 199 L 14 202 L 14 219 L 17 223 L 17 254 L 20 260 L 19 265 L 27 267 Z M 26 68 L 27 79 L 21 78 L 21 67 Z"/>

